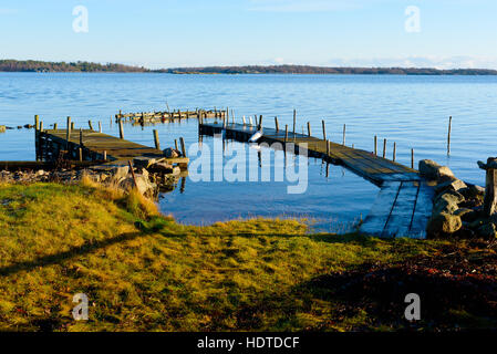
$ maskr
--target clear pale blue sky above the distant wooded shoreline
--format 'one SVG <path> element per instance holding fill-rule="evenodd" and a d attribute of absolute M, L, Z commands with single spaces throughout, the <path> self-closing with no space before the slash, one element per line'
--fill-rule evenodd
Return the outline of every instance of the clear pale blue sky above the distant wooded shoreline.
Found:
<path fill-rule="evenodd" d="M 0 59 L 497 69 L 496 44 L 495 0 L 0 0 Z"/>

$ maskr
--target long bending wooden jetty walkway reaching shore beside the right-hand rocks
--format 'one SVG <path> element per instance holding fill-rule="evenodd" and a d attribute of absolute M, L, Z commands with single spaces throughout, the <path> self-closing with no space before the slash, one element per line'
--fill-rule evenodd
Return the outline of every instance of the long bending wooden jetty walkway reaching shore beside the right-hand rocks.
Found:
<path fill-rule="evenodd" d="M 258 125 L 260 128 L 260 121 Z M 258 140 L 259 143 L 281 143 L 282 145 L 293 143 L 296 153 L 302 148 L 299 145 L 307 144 L 309 156 L 343 165 L 381 187 L 371 211 L 361 226 L 362 233 L 382 238 L 426 238 L 426 225 L 432 215 L 434 192 L 414 168 L 371 152 L 313 137 L 309 125 L 307 135 L 290 133 L 288 126 L 284 131 L 280 129 L 277 119 L 275 128 L 259 128 L 251 124 L 228 123 L 227 119 L 221 123 L 207 123 L 204 119 L 199 122 L 200 134 L 214 135 L 225 132 L 227 138 L 248 142 L 256 132 L 260 131 L 262 137 Z M 324 123 L 323 135 L 325 136 Z"/>

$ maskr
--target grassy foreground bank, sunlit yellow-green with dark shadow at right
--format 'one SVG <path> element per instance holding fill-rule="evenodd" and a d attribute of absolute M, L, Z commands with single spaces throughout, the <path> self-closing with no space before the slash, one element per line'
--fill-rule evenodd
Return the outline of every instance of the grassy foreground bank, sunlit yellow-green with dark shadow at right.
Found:
<path fill-rule="evenodd" d="M 1 330 L 495 327 L 495 263 L 477 241 L 309 235 L 296 220 L 189 227 L 135 194 L 0 186 Z M 444 302 L 454 291 L 468 301 Z M 407 292 L 424 301 L 415 324 Z M 89 321 L 72 319 L 75 293 Z"/>

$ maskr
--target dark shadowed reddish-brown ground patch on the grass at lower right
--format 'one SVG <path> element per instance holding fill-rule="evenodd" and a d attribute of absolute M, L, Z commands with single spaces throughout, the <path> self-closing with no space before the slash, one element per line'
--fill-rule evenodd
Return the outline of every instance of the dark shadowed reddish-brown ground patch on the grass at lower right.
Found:
<path fill-rule="evenodd" d="M 497 254 L 493 246 L 447 244 L 433 256 L 394 264 L 366 263 L 314 278 L 306 287 L 321 300 L 339 300 L 343 312 L 363 310 L 367 323 L 353 330 L 454 331 L 497 329 Z M 421 298 L 421 321 L 404 317 L 405 295 Z M 339 314 L 338 314 L 339 315 Z M 333 316 L 334 317 L 334 316 Z M 335 319 L 321 327 L 333 326 Z"/>

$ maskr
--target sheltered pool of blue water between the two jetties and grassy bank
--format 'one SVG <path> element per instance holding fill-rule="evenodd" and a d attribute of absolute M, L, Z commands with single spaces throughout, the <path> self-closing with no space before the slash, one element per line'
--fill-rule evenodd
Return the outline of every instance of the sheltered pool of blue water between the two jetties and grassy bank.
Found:
<path fill-rule="evenodd" d="M 216 149 L 217 144 L 222 148 Z M 260 152 L 256 152 L 258 158 L 253 164 L 249 157 L 253 149 L 247 148 L 246 143 L 204 137 L 201 146 L 210 153 L 210 178 L 193 178 L 193 175 L 199 171 L 193 170 L 197 165 L 197 157 L 189 156 L 191 162 L 186 185 L 164 194 L 159 199 L 161 209 L 172 214 L 179 222 L 209 225 L 215 221 L 253 217 L 301 218 L 307 219 L 318 231 L 348 232 L 359 222 L 361 216 L 365 216 L 377 192 L 374 185 L 351 171 L 321 159 L 309 158 L 304 192 L 289 194 L 288 187 L 294 186 L 296 180 L 283 178 L 278 181 L 276 174 L 284 171 L 287 176 L 290 171 L 294 174 L 300 170 L 301 167 L 297 163 L 300 157 L 262 147 Z M 234 165 L 234 156 L 240 156 L 240 152 L 245 153 L 240 160 L 246 162 L 246 166 L 241 174 L 236 170 L 238 179 L 215 180 L 214 160 L 220 159 L 226 173 L 227 167 Z M 261 155 L 270 158 L 260 158 Z M 263 178 L 268 170 L 270 178 Z M 257 180 L 255 175 L 258 176 Z"/>

